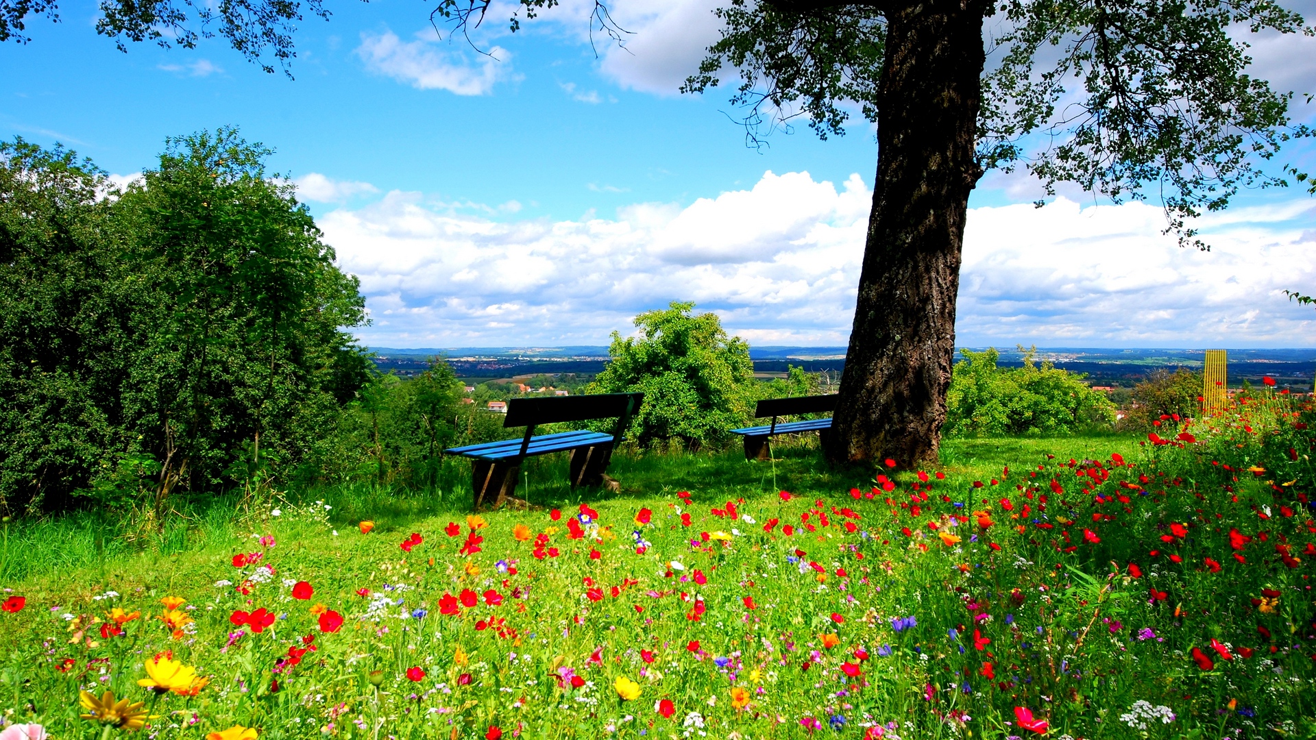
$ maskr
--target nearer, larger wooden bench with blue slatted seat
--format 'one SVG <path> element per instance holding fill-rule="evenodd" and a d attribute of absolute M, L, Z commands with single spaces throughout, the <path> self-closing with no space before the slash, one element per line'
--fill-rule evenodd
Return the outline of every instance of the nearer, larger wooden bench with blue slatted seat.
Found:
<path fill-rule="evenodd" d="M 475 491 L 475 510 L 496 494 L 494 508 L 504 504 L 526 506 L 513 496 L 521 461 L 536 454 L 571 452 L 571 486 L 599 486 L 603 473 L 612 460 L 612 448 L 624 440 L 630 417 L 640 411 L 645 394 L 595 394 L 579 396 L 515 398 L 507 402 L 504 428 L 525 427 L 520 440 L 503 440 L 482 445 L 467 445 L 443 450 L 472 460 L 471 489 Z M 584 421 L 587 419 L 617 419 L 611 435 L 590 432 L 558 432 L 534 435 L 540 424 Z"/>

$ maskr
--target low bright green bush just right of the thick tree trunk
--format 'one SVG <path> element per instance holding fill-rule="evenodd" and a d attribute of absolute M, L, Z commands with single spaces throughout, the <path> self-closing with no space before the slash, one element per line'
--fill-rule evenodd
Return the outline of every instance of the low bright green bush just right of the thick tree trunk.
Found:
<path fill-rule="evenodd" d="M 961 350 L 965 359 L 955 363 L 946 394 L 945 433 L 1071 435 L 1115 424 L 1115 404 L 1083 383 L 1086 375 L 1037 365 L 1036 352 L 1024 353 L 1023 367 L 996 367 L 995 349 Z"/>

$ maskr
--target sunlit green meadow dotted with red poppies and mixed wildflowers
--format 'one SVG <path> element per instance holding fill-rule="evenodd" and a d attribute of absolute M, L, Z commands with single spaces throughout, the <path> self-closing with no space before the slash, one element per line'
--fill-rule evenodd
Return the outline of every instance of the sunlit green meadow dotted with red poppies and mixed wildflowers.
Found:
<path fill-rule="evenodd" d="M 533 511 L 340 489 L 142 539 L 12 523 L 0 708 L 51 737 L 1307 737 L 1300 413 L 923 469 L 629 453 L 586 498 L 542 460 Z"/>

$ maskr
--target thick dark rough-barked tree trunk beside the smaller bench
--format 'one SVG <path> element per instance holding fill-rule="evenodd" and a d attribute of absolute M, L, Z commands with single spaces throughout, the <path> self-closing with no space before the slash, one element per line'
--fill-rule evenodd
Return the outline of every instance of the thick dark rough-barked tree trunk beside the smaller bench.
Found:
<path fill-rule="evenodd" d="M 878 174 L 828 457 L 936 460 L 986 55 L 982 0 L 892 4 Z"/>

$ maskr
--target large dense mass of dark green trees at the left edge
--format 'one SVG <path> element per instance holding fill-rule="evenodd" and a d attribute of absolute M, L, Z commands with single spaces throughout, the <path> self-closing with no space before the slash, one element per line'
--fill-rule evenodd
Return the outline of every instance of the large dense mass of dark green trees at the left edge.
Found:
<path fill-rule="evenodd" d="M 355 398 L 357 279 L 267 154 L 232 129 L 172 138 L 117 192 L 68 151 L 0 145 L 0 507 L 125 470 L 163 506 L 262 445 L 296 463 Z"/>

